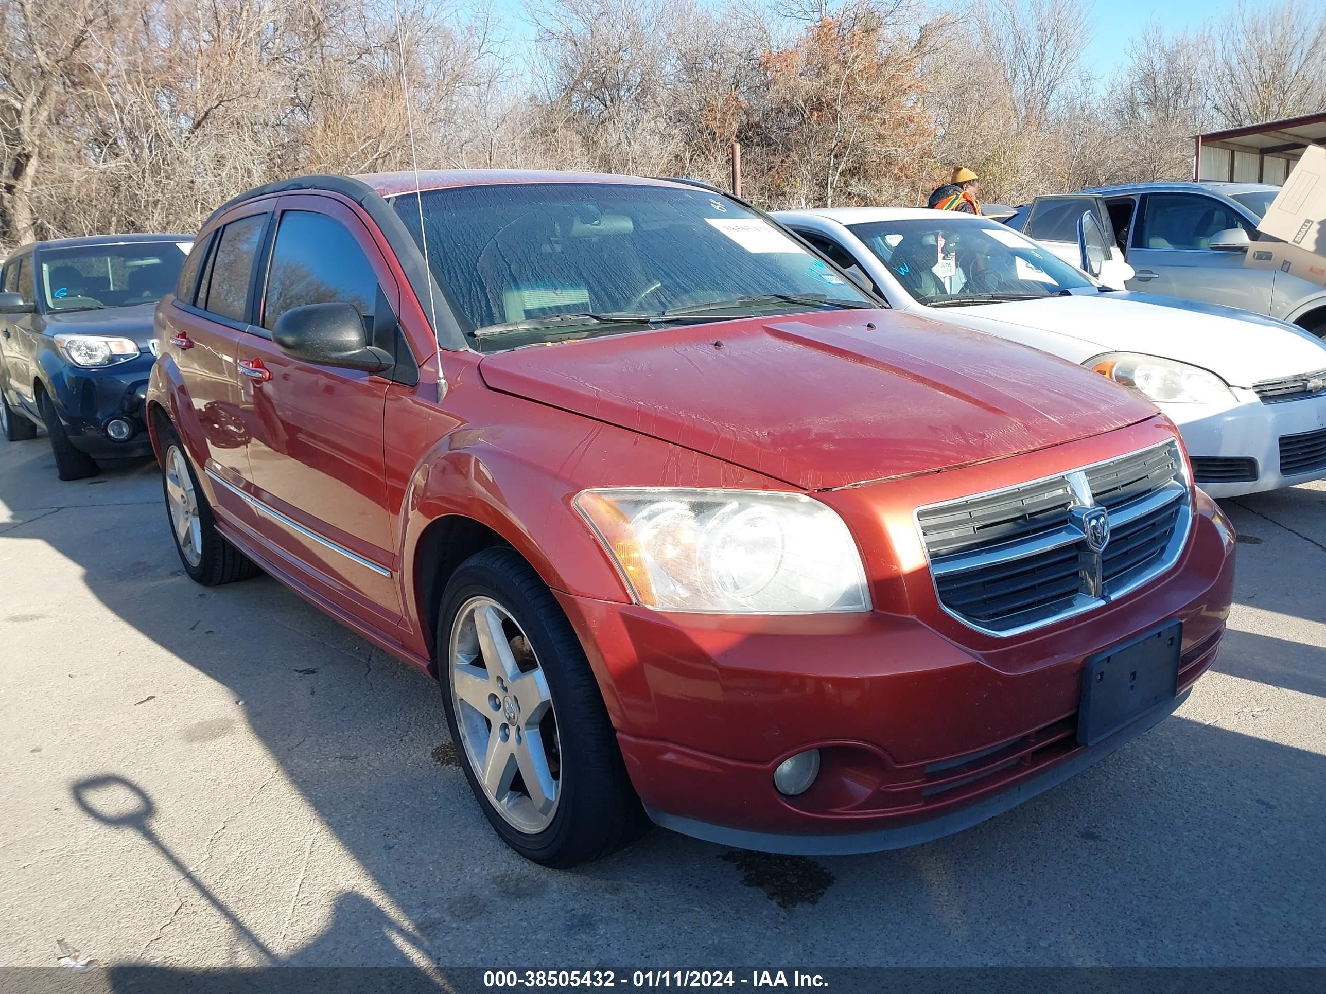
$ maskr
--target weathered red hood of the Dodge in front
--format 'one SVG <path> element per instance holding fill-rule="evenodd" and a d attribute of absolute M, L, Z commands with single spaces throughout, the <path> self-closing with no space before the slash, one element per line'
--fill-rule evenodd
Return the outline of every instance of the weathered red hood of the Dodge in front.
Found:
<path fill-rule="evenodd" d="M 1045 353 L 898 311 L 638 331 L 497 353 L 479 368 L 493 390 L 806 490 L 1000 459 L 1155 414 Z"/>

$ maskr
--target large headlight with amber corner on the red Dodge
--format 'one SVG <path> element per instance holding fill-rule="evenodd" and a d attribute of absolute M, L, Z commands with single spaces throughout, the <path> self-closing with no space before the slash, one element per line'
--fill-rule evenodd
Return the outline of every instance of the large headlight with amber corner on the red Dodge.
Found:
<path fill-rule="evenodd" d="M 830 508 L 764 490 L 585 490 L 575 509 L 660 611 L 867 611 L 857 543 Z"/>

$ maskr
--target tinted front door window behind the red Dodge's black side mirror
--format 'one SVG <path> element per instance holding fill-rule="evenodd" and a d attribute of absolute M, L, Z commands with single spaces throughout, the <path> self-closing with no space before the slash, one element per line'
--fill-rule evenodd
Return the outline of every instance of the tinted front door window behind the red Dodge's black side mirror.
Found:
<path fill-rule="evenodd" d="M 306 304 L 353 304 L 361 317 L 371 318 L 377 298 L 378 277 L 345 225 L 313 211 L 281 215 L 263 327 L 272 330 L 285 311 Z"/>

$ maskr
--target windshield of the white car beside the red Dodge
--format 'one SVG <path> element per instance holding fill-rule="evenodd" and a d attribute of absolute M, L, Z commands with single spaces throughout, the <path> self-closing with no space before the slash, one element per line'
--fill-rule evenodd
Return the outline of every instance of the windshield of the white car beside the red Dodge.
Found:
<path fill-rule="evenodd" d="M 994 221 L 945 217 L 849 225 L 915 300 L 931 306 L 1054 297 L 1094 288 L 1058 256 Z"/>

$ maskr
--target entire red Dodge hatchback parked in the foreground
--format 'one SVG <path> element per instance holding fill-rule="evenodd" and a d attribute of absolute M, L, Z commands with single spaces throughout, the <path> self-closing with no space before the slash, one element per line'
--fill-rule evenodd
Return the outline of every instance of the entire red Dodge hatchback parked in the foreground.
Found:
<path fill-rule="evenodd" d="M 888 311 L 699 184 L 260 187 L 156 335 L 184 569 L 263 569 L 434 673 L 484 815 L 548 865 L 650 820 L 959 831 L 1170 714 L 1224 632 L 1233 531 L 1155 408 Z"/>

